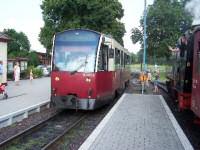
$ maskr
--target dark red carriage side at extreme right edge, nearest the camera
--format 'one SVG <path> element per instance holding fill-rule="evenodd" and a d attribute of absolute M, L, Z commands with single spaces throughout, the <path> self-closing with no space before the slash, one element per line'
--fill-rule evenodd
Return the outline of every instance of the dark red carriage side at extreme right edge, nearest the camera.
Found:
<path fill-rule="evenodd" d="M 192 80 L 192 110 L 200 117 L 200 30 L 195 34 Z"/>

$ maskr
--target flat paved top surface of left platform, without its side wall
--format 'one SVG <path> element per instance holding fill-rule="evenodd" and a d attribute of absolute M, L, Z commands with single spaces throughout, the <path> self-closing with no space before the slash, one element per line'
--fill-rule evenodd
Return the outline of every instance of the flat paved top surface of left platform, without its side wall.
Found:
<path fill-rule="evenodd" d="M 21 80 L 19 86 L 9 81 L 6 89 L 8 99 L 3 100 L 0 95 L 0 117 L 50 100 L 49 77 L 34 79 L 32 83 Z"/>

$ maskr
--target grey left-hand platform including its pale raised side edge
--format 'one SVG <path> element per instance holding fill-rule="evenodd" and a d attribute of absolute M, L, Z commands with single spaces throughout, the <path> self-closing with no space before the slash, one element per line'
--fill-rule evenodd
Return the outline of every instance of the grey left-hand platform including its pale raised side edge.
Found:
<path fill-rule="evenodd" d="M 8 81 L 6 87 L 8 99 L 0 95 L 0 128 L 10 125 L 18 119 L 27 118 L 34 111 L 40 111 L 40 106 L 48 105 L 50 101 L 50 78 L 44 77 L 21 80 L 19 86 Z"/>

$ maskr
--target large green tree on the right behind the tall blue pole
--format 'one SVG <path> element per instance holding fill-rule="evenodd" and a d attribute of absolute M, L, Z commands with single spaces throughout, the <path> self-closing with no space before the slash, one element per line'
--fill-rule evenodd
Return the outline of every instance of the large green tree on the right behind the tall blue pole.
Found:
<path fill-rule="evenodd" d="M 181 34 L 191 26 L 192 17 L 185 11 L 187 0 L 155 0 L 148 7 L 147 54 L 154 57 L 169 57 L 168 45 L 174 46 Z M 132 30 L 133 43 L 143 46 L 143 17 L 140 28 Z"/>

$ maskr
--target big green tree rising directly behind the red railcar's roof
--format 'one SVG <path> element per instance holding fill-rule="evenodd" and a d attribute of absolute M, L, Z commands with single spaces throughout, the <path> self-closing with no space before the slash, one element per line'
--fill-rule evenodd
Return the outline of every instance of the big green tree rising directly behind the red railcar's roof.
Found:
<path fill-rule="evenodd" d="M 44 27 L 40 42 L 49 52 L 56 32 L 70 28 L 88 28 L 111 34 L 123 44 L 124 11 L 118 0 L 44 0 L 41 5 Z"/>

